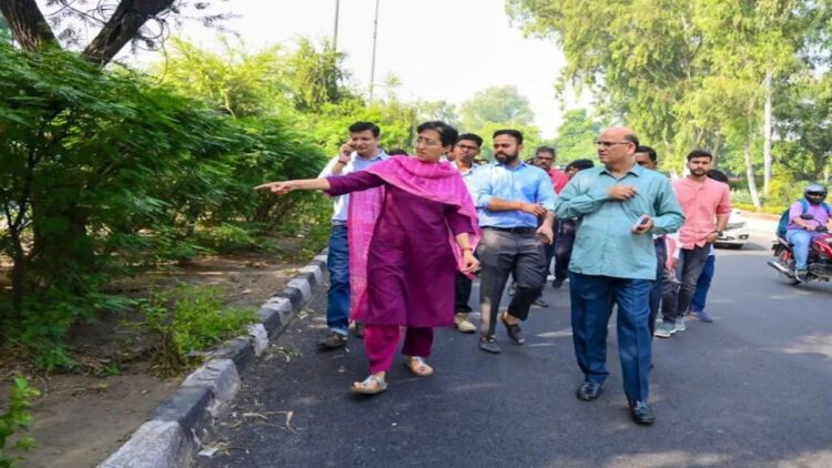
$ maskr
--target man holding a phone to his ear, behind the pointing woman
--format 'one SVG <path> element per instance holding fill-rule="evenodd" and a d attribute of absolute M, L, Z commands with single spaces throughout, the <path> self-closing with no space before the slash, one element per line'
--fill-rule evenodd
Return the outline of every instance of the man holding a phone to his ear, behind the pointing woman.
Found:
<path fill-rule="evenodd" d="M 349 141 L 341 146 L 338 155 L 326 164 L 318 177 L 345 175 L 362 171 L 388 156 L 378 147 L 381 130 L 373 122 L 356 122 L 349 125 Z M 327 293 L 326 336 L 317 343 L 321 349 L 336 349 L 347 342 L 349 328 L 349 248 L 347 245 L 347 213 L 349 195 L 335 197 L 329 233 L 329 292 Z"/>

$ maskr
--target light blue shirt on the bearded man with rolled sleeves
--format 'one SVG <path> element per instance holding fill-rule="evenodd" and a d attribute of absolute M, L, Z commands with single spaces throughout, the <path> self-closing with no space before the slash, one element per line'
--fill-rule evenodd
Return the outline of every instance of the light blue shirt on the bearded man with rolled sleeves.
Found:
<path fill-rule="evenodd" d="M 490 211 L 491 199 L 526 202 L 555 210 L 555 187 L 542 169 L 520 163 L 515 167 L 491 163 L 475 175 L 476 196 L 474 203 L 479 210 L 479 225 L 483 227 L 537 227 L 537 216 L 521 211 Z"/>

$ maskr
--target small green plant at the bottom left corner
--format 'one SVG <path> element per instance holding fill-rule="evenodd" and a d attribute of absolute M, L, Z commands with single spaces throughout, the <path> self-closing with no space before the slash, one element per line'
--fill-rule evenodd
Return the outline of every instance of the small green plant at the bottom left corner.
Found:
<path fill-rule="evenodd" d="M 0 414 L 0 467 L 11 468 L 17 461 L 23 459 L 23 457 L 10 455 L 10 449 L 28 451 L 34 447 L 34 439 L 21 436 L 21 434 L 29 430 L 29 425 L 32 423 L 29 408 L 32 406 L 32 399 L 38 396 L 40 396 L 40 393 L 31 388 L 26 378 L 14 378 L 14 386 L 11 387 L 7 409 Z M 6 445 L 12 436 L 17 436 L 17 441 L 12 447 L 7 447 Z"/>

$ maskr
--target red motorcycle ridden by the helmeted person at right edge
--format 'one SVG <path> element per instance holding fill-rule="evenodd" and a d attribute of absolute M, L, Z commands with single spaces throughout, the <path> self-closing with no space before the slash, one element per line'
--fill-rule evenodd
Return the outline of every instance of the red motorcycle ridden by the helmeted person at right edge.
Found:
<path fill-rule="evenodd" d="M 800 217 L 804 221 L 816 222 L 814 216 L 808 213 L 802 214 Z M 822 234 L 816 235 L 809 247 L 806 282 L 828 282 L 832 279 L 832 234 L 828 232 L 826 226 L 820 225 L 820 222 L 818 224 L 816 232 Z M 780 278 L 784 283 L 790 285 L 801 283 L 797 276 L 793 245 L 785 237 L 778 236 L 773 251 L 774 258 L 768 262 L 769 266 L 780 273 Z"/>

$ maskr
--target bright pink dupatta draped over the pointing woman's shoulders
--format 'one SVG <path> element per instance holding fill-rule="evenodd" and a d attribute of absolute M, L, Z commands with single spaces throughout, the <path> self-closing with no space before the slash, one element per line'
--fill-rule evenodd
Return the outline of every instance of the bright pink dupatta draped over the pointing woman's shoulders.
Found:
<path fill-rule="evenodd" d="M 410 194 L 456 206 L 460 214 L 470 220 L 470 227 L 474 233 L 470 236 L 470 244 L 471 248 L 476 248 L 479 242 L 477 210 L 459 171 L 450 164 L 426 163 L 415 157 L 394 156 L 373 164 L 365 171 Z M 351 315 L 353 318 L 361 318 L 366 313 L 367 255 L 383 203 L 383 186 L 349 194 L 347 235 L 349 243 Z M 448 228 L 448 243 L 454 252 L 457 267 L 461 268 L 463 253 L 450 228 Z"/>

